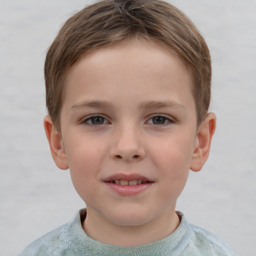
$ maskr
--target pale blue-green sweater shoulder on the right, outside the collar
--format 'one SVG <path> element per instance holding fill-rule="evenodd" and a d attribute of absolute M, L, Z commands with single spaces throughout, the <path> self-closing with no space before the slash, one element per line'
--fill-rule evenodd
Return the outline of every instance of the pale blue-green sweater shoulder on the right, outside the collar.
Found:
<path fill-rule="evenodd" d="M 211 256 L 236 255 L 232 247 L 219 236 L 202 227 L 193 224 L 189 224 L 189 226 L 192 230 L 192 239 L 190 241 L 192 246 L 201 248 L 201 250 L 205 251 L 205 253 L 209 253 Z"/>

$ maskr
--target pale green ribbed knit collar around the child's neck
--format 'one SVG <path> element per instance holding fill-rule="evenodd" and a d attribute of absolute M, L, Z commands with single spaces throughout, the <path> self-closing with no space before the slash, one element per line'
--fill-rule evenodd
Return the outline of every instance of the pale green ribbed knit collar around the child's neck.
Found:
<path fill-rule="evenodd" d="M 184 215 L 177 211 L 180 218 L 180 224 L 177 229 L 169 236 L 144 245 L 134 247 L 122 247 L 110 244 L 101 243 L 92 239 L 82 229 L 81 222 L 86 217 L 86 209 L 81 209 L 75 216 L 74 220 L 69 223 L 67 229 L 67 239 L 69 247 L 79 252 L 86 251 L 91 256 L 115 256 L 115 255 L 136 255 L 136 256 L 150 256 L 150 255 L 176 255 L 189 242 L 191 232 L 188 231 L 189 225 Z"/>

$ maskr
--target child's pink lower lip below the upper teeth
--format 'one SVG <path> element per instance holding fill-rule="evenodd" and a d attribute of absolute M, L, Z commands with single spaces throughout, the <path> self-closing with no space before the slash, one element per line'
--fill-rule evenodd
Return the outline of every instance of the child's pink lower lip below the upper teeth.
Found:
<path fill-rule="evenodd" d="M 135 195 L 148 189 L 153 182 L 141 183 L 137 185 L 120 185 L 110 182 L 105 182 L 105 184 L 114 192 L 120 195 Z"/>

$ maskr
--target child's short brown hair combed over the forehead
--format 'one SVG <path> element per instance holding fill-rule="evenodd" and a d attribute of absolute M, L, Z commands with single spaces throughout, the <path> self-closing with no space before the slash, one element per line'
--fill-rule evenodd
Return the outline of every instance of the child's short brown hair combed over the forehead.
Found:
<path fill-rule="evenodd" d="M 210 102 L 211 63 L 192 21 L 161 0 L 101 0 L 68 18 L 47 51 L 46 107 L 57 129 L 69 68 L 93 49 L 132 37 L 153 40 L 180 57 L 190 72 L 197 124 L 202 122 Z"/>

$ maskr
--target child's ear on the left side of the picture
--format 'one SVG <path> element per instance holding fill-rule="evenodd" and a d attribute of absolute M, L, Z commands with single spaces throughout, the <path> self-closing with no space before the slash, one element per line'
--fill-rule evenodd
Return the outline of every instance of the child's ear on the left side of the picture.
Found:
<path fill-rule="evenodd" d="M 56 130 L 49 115 L 43 119 L 44 130 L 49 142 L 51 156 L 60 169 L 67 169 L 68 163 L 61 134 Z"/>

